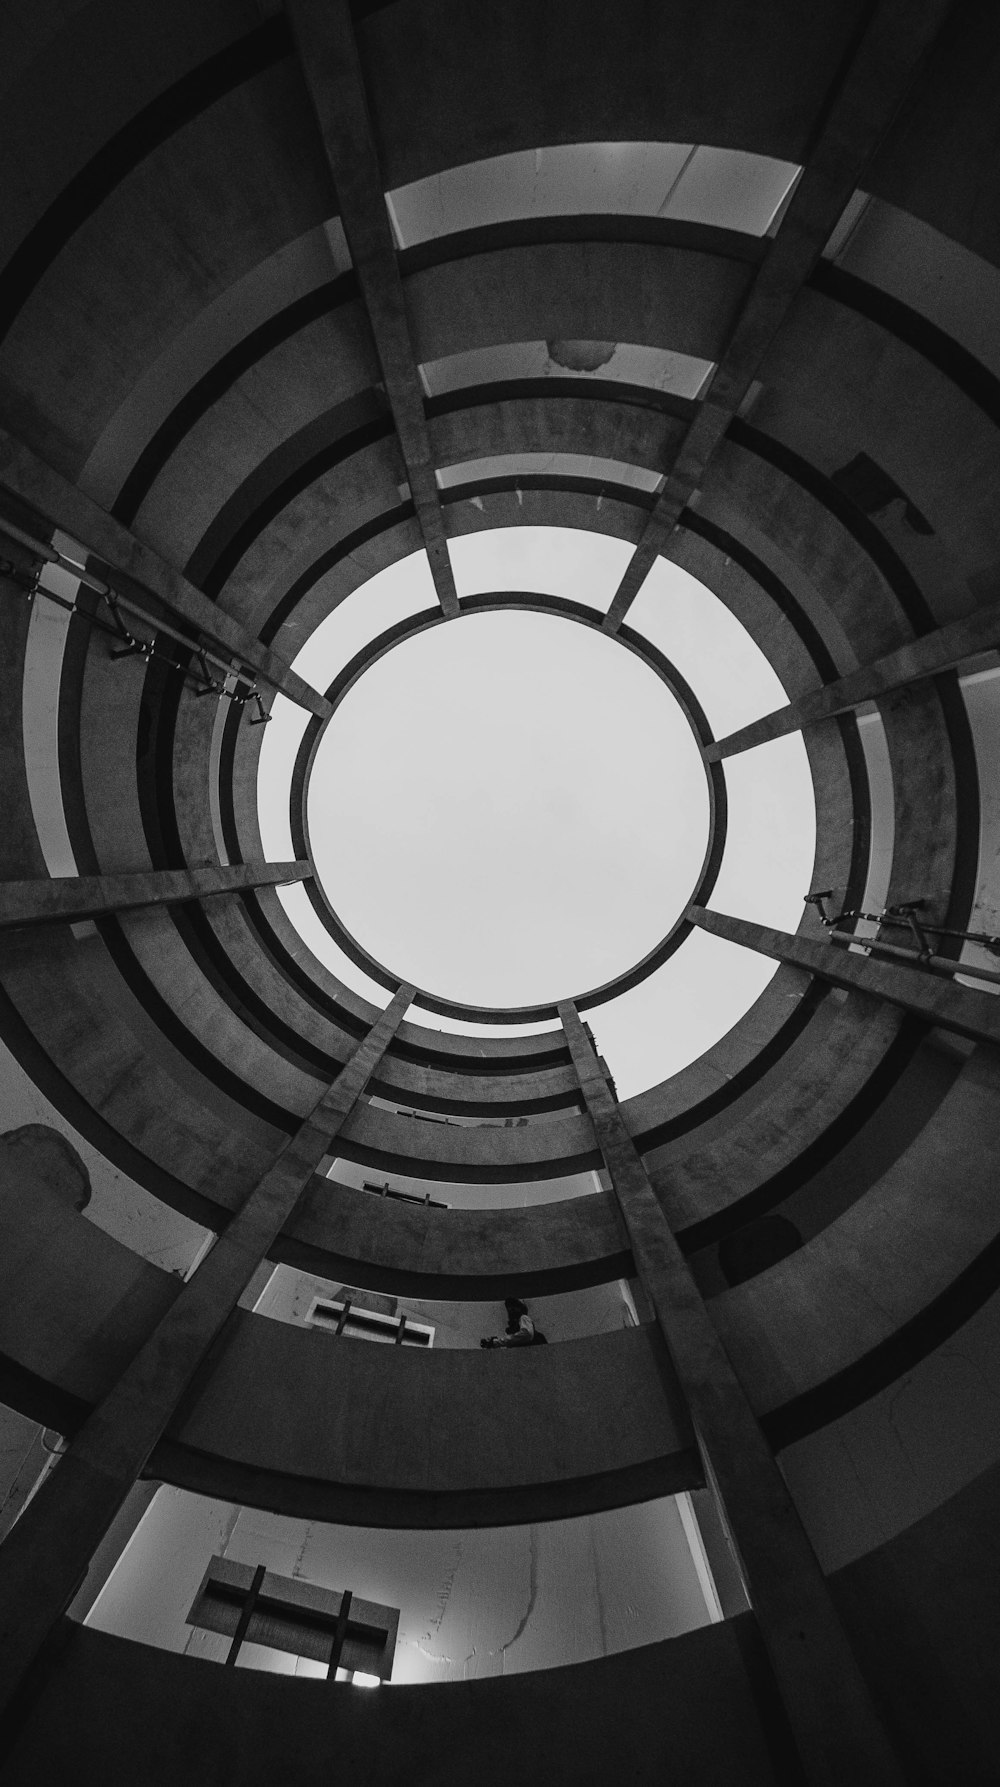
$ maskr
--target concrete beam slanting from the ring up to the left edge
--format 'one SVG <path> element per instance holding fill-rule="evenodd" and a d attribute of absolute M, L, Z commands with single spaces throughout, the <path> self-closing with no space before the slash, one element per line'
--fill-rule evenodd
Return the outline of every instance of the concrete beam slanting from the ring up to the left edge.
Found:
<path fill-rule="evenodd" d="M 30 447 L 0 429 L 0 520 L 9 520 L 20 529 L 25 529 L 27 522 L 30 533 L 32 518 L 45 541 L 52 540 L 55 529 L 77 540 L 84 547 L 86 568 L 96 572 L 120 595 L 146 606 L 154 597 L 154 608 L 162 604 L 168 617 L 182 620 L 223 652 L 238 658 L 298 708 L 307 708 L 321 720 L 334 711 L 330 702 L 282 658 L 261 645 L 232 615 L 188 583 L 159 552 L 143 545 L 77 484 L 39 459 Z"/>

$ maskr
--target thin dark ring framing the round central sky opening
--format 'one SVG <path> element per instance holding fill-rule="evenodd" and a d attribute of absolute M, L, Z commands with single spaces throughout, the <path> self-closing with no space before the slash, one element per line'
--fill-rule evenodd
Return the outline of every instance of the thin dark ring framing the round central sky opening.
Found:
<path fill-rule="evenodd" d="M 496 590 L 489 593 L 479 593 L 464 597 L 459 602 L 459 617 L 462 615 L 482 615 L 482 613 L 511 613 L 511 611 L 529 611 L 543 613 L 554 618 L 577 622 L 579 625 L 591 627 L 602 633 L 605 638 L 616 642 L 625 650 L 630 650 L 648 670 L 666 686 L 677 706 L 680 708 L 688 726 L 693 733 L 695 743 L 698 747 L 698 756 L 702 759 L 702 768 L 705 774 L 705 792 L 707 792 L 707 810 L 709 810 L 709 829 L 705 854 L 695 879 L 691 895 L 684 910 L 677 915 L 673 924 L 662 935 L 662 938 L 636 963 L 625 969 L 621 974 L 598 986 L 591 986 L 586 992 L 566 994 L 564 997 L 573 999 L 580 1011 L 593 1010 L 616 999 L 620 994 L 630 992 L 639 986 L 650 974 L 654 974 L 670 956 L 680 947 L 684 938 L 691 933 L 693 926 L 688 919 L 688 908 L 693 904 L 704 906 L 714 888 L 727 838 L 727 788 L 725 774 L 721 763 L 709 763 L 705 759 L 705 745 L 712 743 L 712 731 L 695 695 L 689 683 L 680 675 L 675 665 L 650 645 L 639 633 L 630 627 L 621 625 L 618 633 L 611 634 L 604 627 L 604 615 L 582 602 L 571 602 L 566 597 L 546 595 L 541 591 L 523 591 L 523 590 Z M 320 742 L 332 724 L 339 704 L 345 701 L 348 692 L 359 683 L 366 670 L 370 670 L 386 652 L 391 652 L 396 645 L 405 643 L 420 633 L 425 633 L 438 625 L 455 625 L 455 620 L 448 620 L 439 608 L 421 609 L 416 615 L 409 615 L 396 622 L 393 627 L 386 629 L 382 634 L 373 638 L 355 658 L 350 659 L 338 674 L 334 683 L 325 692 L 327 701 L 332 706 L 332 713 L 325 720 L 312 720 L 304 733 L 295 770 L 289 783 L 289 824 L 291 836 L 295 842 L 296 854 L 312 861 L 312 849 L 309 842 L 309 781 L 312 774 L 312 765 L 320 749 Z M 388 969 L 377 956 L 373 956 L 343 924 L 339 913 L 336 911 L 327 890 L 323 888 L 318 876 L 314 876 L 307 885 L 309 901 L 325 926 L 334 944 L 345 952 L 345 956 L 354 961 L 371 981 L 384 986 L 388 992 L 396 992 L 398 986 L 407 985 L 409 977 Z M 411 983 L 412 985 L 412 983 Z M 454 999 L 445 999 L 434 994 L 432 988 L 418 986 L 414 994 L 416 1006 L 425 1011 L 432 1011 L 439 1017 L 457 1019 L 464 1022 L 479 1024 L 538 1024 L 548 1019 L 557 1019 L 555 1001 L 543 1001 L 538 1004 L 521 1006 L 486 1006 L 486 1004 L 466 1004 Z"/>

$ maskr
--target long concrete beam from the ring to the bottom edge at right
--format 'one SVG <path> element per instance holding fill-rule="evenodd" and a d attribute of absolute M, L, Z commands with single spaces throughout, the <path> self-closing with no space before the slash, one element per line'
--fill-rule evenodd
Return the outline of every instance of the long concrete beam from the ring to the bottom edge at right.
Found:
<path fill-rule="evenodd" d="M 741 1560 L 805 1780 L 811 1787 L 902 1787 L 816 1553 L 571 1001 L 559 1006 L 559 1019 L 636 1269 L 688 1397 L 705 1478 Z"/>

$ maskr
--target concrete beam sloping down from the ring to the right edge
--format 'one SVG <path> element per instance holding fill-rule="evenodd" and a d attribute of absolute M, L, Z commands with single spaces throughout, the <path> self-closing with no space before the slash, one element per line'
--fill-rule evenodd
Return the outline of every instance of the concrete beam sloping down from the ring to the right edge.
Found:
<path fill-rule="evenodd" d="M 1000 1044 L 1000 999 L 980 994 L 973 986 L 955 986 L 950 976 L 930 974 L 909 963 L 884 961 L 879 956 L 855 954 L 839 944 L 818 942 L 811 936 L 791 936 L 789 931 L 771 931 L 750 919 L 730 919 L 723 911 L 689 906 L 691 924 L 700 924 L 712 936 L 725 936 L 743 949 L 755 949 L 775 961 L 791 961 L 807 974 L 816 974 L 832 986 L 857 988 L 886 999 L 889 1004 L 921 1017 L 927 1024 L 954 1029 L 971 1042 Z M 930 926 L 930 931 L 934 927 Z M 862 938 L 859 938 L 862 942 Z"/>

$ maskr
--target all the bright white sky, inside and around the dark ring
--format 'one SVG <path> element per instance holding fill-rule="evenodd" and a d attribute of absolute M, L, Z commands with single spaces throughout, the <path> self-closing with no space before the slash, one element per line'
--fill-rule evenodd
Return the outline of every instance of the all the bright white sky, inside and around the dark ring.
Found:
<path fill-rule="evenodd" d="M 450 552 L 462 597 L 534 588 L 605 609 L 630 547 L 525 527 L 452 540 Z M 425 608 L 434 590 L 414 554 L 334 609 L 295 667 L 327 688 L 364 643 Z M 671 658 L 716 736 L 786 699 L 729 609 L 662 559 L 629 625 Z M 271 861 L 293 854 L 288 784 L 305 724 L 279 697 L 259 777 Z M 729 840 L 711 904 L 795 929 L 814 851 L 802 740 L 725 770 Z M 393 974 L 470 1004 L 541 1003 L 620 974 L 673 924 L 705 851 L 705 777 L 680 709 L 632 652 L 546 615 L 464 615 L 395 647 L 345 697 L 318 752 L 309 829 L 329 899 Z M 280 899 L 325 965 L 384 1004 L 304 890 Z M 593 1008 L 620 1094 L 696 1060 L 773 972 L 696 931 L 632 994 Z M 418 1008 L 411 1019 L 482 1033 Z"/>

